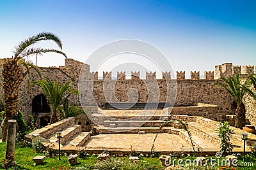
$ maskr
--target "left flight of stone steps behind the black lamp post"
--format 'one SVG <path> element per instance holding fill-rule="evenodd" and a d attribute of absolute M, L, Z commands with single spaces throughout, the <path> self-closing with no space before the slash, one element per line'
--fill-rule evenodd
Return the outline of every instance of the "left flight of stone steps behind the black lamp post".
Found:
<path fill-rule="evenodd" d="M 56 136 L 56 132 L 58 131 L 61 131 L 62 138 L 60 139 L 60 144 L 62 148 L 65 146 L 83 146 L 90 138 L 90 132 L 82 132 L 81 125 L 75 124 L 74 117 L 66 118 L 55 124 L 47 125 L 42 129 L 37 129 L 36 131 L 27 134 L 25 138 L 32 142 L 33 136 L 38 136 L 38 140 L 42 141 L 44 145 L 52 143 L 57 147 L 59 139 Z"/>

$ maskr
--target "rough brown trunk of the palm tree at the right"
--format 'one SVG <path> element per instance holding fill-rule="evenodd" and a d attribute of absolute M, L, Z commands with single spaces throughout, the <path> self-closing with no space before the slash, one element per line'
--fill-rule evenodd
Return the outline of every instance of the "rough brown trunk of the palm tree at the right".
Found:
<path fill-rule="evenodd" d="M 241 104 L 237 104 L 235 127 L 239 129 L 243 129 L 244 125 L 245 125 L 245 107 L 242 102 Z"/>

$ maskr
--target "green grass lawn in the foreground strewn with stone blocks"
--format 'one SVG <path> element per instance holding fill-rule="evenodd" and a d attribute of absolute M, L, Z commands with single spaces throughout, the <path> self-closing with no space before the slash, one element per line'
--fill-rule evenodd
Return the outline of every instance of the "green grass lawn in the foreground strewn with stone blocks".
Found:
<path fill-rule="evenodd" d="M 0 159 L 4 160 L 5 155 L 5 147 L 6 143 L 0 143 Z M 58 155 L 54 158 L 45 158 L 45 163 L 42 165 L 35 166 L 33 162 L 33 157 L 36 155 L 44 155 L 43 153 L 35 153 L 32 148 L 16 148 L 15 149 L 15 161 L 17 162 L 17 166 L 14 169 L 65 169 L 64 167 L 67 167 L 69 169 L 70 167 L 81 167 L 81 166 L 93 166 L 93 164 L 96 164 L 99 162 L 97 160 L 97 157 L 86 157 L 85 159 L 79 159 L 77 160 L 77 164 L 75 166 L 68 165 L 68 157 L 67 156 L 61 156 L 61 160 L 58 160 Z M 210 157 L 207 157 L 208 159 Z M 120 157 L 116 160 L 124 160 L 125 162 L 129 162 L 128 157 Z M 186 158 L 182 158 L 185 160 Z M 188 157 L 188 159 L 195 159 L 195 157 Z M 240 164 L 241 160 L 243 158 L 239 157 L 239 162 L 237 162 L 237 165 Z M 236 169 L 245 169 L 245 170 L 253 170 L 256 169 L 256 160 L 250 157 L 246 157 L 246 162 L 253 162 L 253 167 L 236 167 Z M 3 161 L 1 161 L 1 165 L 3 164 Z M 146 158 L 143 157 L 140 160 L 140 166 L 143 167 L 143 169 L 163 169 L 164 167 L 161 166 L 158 158 Z M 111 166 L 109 166 L 111 167 Z M 4 167 L 0 167 L 0 169 L 4 169 Z M 13 168 L 10 168 L 13 169 Z M 102 168 L 103 169 L 103 168 Z M 138 169 L 138 168 L 136 168 Z M 200 168 L 201 169 L 201 168 Z M 203 169 L 203 168 L 202 168 Z M 216 167 L 216 169 L 219 169 L 219 167 Z M 206 170 L 206 169 L 205 169 Z"/>

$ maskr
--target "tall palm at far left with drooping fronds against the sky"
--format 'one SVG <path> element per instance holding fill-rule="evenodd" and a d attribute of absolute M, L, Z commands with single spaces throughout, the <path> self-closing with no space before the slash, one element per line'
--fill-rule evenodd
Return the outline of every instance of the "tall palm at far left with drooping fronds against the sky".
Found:
<path fill-rule="evenodd" d="M 13 114 L 17 115 L 19 110 L 19 91 L 20 91 L 20 83 L 22 81 L 22 71 L 20 70 L 20 66 L 24 66 L 28 71 L 29 76 L 29 68 L 33 68 L 40 75 L 40 71 L 38 68 L 33 65 L 31 62 L 26 62 L 24 57 L 30 57 L 32 55 L 42 55 L 43 53 L 54 52 L 60 53 L 61 55 L 65 55 L 65 53 L 48 48 L 40 48 L 35 47 L 38 41 L 46 41 L 51 40 L 54 41 L 61 49 L 62 44 L 60 38 L 51 32 L 42 32 L 36 34 L 35 36 L 31 36 L 24 41 L 21 41 L 18 46 L 15 47 L 13 51 L 12 59 L 8 60 L 3 64 L 3 89 L 4 89 L 4 120 L 2 123 L 3 128 L 3 141 L 6 141 L 7 134 L 7 124 L 8 120 L 12 119 Z"/>

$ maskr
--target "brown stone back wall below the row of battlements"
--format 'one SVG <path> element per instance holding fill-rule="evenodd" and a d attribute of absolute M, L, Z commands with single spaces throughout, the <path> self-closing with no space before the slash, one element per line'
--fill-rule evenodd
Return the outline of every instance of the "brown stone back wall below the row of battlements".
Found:
<path fill-rule="evenodd" d="M 172 103 L 175 94 L 177 93 L 175 99 L 175 106 L 196 106 L 198 103 L 205 104 L 214 104 L 221 106 L 221 110 L 218 113 L 207 113 L 208 115 L 212 115 L 213 120 L 222 121 L 223 115 L 232 115 L 234 113 L 234 109 L 232 108 L 232 98 L 224 89 L 220 87 L 213 86 L 216 80 L 156 80 L 157 86 L 156 91 L 159 89 L 159 93 L 156 92 L 154 94 L 154 88 L 152 90 L 152 95 L 154 99 L 159 99 L 161 102 L 170 102 Z M 148 85 L 150 81 L 148 80 L 95 80 L 93 81 L 93 96 L 95 97 L 95 101 L 99 106 L 104 106 L 107 102 L 132 102 L 132 97 L 134 94 L 131 94 L 129 90 L 135 90 L 138 93 L 138 102 L 147 102 L 150 96 L 148 95 Z M 176 85 L 177 90 L 170 90 L 171 87 L 168 85 Z M 108 87 L 106 87 L 108 86 Z M 104 88 L 103 88 L 104 87 Z M 104 92 L 103 89 L 115 89 L 111 91 L 106 90 Z M 88 90 L 88 89 L 84 89 Z M 150 91 L 149 90 L 149 91 Z M 169 94 L 168 92 L 174 92 L 175 94 Z M 115 93 L 115 95 L 114 95 Z M 157 96 L 159 94 L 159 97 Z M 106 97 L 108 96 L 108 97 Z M 90 98 L 88 99 L 88 104 L 92 103 Z M 137 101 L 137 100 L 136 100 Z M 186 107 L 184 107 L 186 109 Z M 195 110 L 194 113 L 188 111 L 188 115 L 198 115 Z M 214 110 L 216 111 L 216 110 Z M 186 112 L 186 111 L 185 111 Z M 204 111 L 203 111 L 204 112 Z M 176 113 L 176 112 L 175 112 Z M 206 114 L 206 113 L 205 113 Z M 204 115 L 205 115 L 204 114 Z M 200 116 L 204 116 L 200 115 Z"/>

